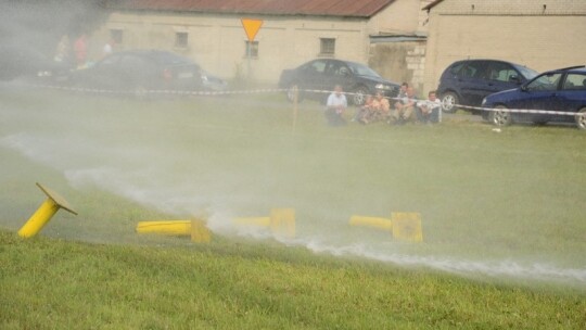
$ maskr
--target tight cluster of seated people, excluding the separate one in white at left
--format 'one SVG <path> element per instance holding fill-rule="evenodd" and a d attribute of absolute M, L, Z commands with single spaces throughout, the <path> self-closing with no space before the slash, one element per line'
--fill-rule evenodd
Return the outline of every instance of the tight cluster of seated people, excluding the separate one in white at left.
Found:
<path fill-rule="evenodd" d="M 392 107 L 391 101 L 393 102 Z M 367 96 L 365 104 L 358 107 L 354 120 L 361 124 L 382 120 L 394 125 L 403 125 L 408 122 L 422 124 L 440 122 L 442 103 L 436 98 L 435 91 L 429 92 L 428 100 L 418 100 L 415 89 L 404 82 L 397 98 L 391 101 L 384 97 L 382 91 L 377 91 L 374 97 Z"/>

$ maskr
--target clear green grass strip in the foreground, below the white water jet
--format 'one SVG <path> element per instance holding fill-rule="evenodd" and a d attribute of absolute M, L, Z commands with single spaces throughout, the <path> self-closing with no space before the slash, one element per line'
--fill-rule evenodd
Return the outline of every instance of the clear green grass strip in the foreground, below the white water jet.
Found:
<path fill-rule="evenodd" d="M 583 329 L 584 295 L 270 243 L 88 245 L 1 232 L 2 329 Z"/>

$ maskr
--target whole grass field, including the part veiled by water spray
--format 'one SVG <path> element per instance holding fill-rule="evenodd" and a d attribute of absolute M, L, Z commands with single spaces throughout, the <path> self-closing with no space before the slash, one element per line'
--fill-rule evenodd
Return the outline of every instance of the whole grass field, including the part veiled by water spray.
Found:
<path fill-rule="evenodd" d="M 321 105 L 295 116 L 283 99 L 2 91 L 1 289 L 22 293 L 3 295 L 1 322 L 54 328 L 77 313 L 81 328 L 584 328 L 586 135 L 495 132 L 468 115 L 330 128 Z M 36 181 L 79 213 L 43 229 L 58 241 L 11 234 L 44 198 Z M 293 240 L 230 226 L 281 206 L 295 208 Z M 391 212 L 421 213 L 424 242 L 348 226 Z M 215 232 L 207 246 L 135 233 L 141 220 L 193 216 Z"/>

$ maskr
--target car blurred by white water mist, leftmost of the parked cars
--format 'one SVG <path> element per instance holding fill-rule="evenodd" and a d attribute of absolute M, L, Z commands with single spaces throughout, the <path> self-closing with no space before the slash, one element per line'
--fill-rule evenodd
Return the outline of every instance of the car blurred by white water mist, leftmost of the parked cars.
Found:
<path fill-rule="evenodd" d="M 112 53 L 88 68 L 75 71 L 71 84 L 138 94 L 146 90 L 225 90 L 226 81 L 205 73 L 188 58 L 161 50 Z"/>

